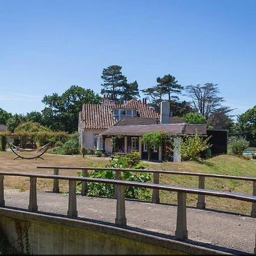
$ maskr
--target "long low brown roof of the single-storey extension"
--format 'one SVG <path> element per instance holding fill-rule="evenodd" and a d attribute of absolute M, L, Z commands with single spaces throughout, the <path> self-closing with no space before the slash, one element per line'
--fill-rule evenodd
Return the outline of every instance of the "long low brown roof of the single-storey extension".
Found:
<path fill-rule="evenodd" d="M 196 131 L 201 136 L 207 135 L 206 125 L 190 125 L 185 123 L 176 123 L 168 125 L 128 125 L 128 126 L 112 126 L 101 135 L 131 135 L 142 136 L 147 132 L 165 131 L 170 135 L 193 135 Z"/>

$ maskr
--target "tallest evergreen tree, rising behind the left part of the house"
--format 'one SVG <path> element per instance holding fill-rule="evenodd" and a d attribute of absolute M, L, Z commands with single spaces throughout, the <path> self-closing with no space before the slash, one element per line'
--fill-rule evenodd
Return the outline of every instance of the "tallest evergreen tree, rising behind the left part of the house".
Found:
<path fill-rule="evenodd" d="M 121 99 L 123 89 L 127 85 L 127 78 L 121 72 L 122 67 L 119 65 L 110 65 L 102 71 L 101 94 L 109 94 L 113 100 Z"/>

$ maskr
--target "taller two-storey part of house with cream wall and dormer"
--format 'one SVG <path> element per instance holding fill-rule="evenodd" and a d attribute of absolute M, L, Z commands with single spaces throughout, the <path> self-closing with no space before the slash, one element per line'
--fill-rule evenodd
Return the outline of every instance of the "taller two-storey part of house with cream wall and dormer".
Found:
<path fill-rule="evenodd" d="M 122 119 L 129 118 L 126 121 Z M 158 123 L 159 114 L 149 108 L 147 101 L 130 100 L 122 105 L 115 104 L 108 95 L 102 98 L 102 104 L 84 104 L 79 113 L 79 139 L 81 147 L 97 148 L 112 152 L 112 140 L 104 141 L 100 136 L 118 122 L 127 123 Z M 136 121 L 135 121 L 136 120 Z M 119 123 L 120 124 L 120 123 Z"/>

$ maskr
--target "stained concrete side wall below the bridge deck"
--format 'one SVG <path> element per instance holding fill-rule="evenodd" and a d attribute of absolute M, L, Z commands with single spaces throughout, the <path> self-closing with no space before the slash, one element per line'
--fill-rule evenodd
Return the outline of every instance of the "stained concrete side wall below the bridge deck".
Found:
<path fill-rule="evenodd" d="M 24 254 L 214 254 L 115 226 L 6 208 L 0 208 L 0 226 Z"/>

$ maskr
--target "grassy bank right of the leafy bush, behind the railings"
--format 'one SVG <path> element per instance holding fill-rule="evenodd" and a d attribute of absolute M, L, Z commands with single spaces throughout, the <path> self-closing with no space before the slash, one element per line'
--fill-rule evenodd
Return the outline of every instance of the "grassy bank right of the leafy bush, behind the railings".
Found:
<path fill-rule="evenodd" d="M 149 167 L 156 170 L 175 170 L 203 172 L 207 174 L 222 174 L 235 176 L 256 177 L 256 162 L 238 158 L 237 156 L 220 155 L 205 160 L 204 162 L 180 162 L 180 163 L 160 163 L 149 164 Z M 160 183 L 181 185 L 185 187 L 197 187 L 198 178 L 181 175 L 160 175 Z M 217 191 L 233 191 L 239 193 L 251 194 L 253 192 L 252 183 L 240 180 L 205 178 L 205 188 Z M 197 197 L 188 195 L 188 205 L 195 207 Z M 176 203 L 176 193 L 160 192 L 160 201 L 162 203 Z M 207 208 L 227 210 L 237 213 L 250 213 L 251 203 L 232 199 L 221 199 L 218 197 L 209 197 L 206 199 Z"/>

